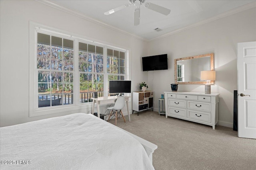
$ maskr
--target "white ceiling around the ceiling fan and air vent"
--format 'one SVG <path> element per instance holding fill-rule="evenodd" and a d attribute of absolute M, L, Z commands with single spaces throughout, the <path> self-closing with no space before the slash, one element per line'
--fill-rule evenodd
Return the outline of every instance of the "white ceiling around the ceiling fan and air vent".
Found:
<path fill-rule="evenodd" d="M 146 2 L 168 8 L 171 12 L 165 16 L 141 6 L 140 25 L 134 26 L 135 6 L 131 5 L 113 14 L 104 15 L 108 10 L 129 4 L 128 0 L 51 0 L 46 2 L 55 8 L 86 16 L 87 19 L 96 23 L 132 33 L 146 41 L 251 8 L 250 6 L 256 4 L 256 0 L 146 0 Z M 156 28 L 162 31 L 154 31 Z"/>

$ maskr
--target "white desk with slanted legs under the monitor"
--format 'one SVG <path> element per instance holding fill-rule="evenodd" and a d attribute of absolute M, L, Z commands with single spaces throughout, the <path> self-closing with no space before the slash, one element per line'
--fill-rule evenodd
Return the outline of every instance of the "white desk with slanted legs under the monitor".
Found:
<path fill-rule="evenodd" d="M 97 110 L 98 110 L 98 117 L 100 118 L 100 105 L 101 104 L 109 104 L 109 103 L 114 103 L 114 101 L 117 99 L 117 96 L 108 96 L 108 97 L 100 97 L 100 98 L 91 98 L 92 99 L 92 114 L 94 114 L 94 104 L 97 104 Z M 125 101 L 126 101 L 126 107 L 127 107 L 127 112 L 129 116 L 129 121 L 130 119 L 130 113 L 129 113 L 129 98 L 130 96 L 124 96 Z"/>

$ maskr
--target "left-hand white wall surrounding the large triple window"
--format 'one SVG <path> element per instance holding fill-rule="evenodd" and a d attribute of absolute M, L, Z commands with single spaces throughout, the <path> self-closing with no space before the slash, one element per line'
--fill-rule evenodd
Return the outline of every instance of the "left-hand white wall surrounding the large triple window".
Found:
<path fill-rule="evenodd" d="M 36 1 L 0 1 L 0 126 L 70 114 L 70 112 L 29 117 L 29 21 L 75 33 L 107 45 L 129 49 L 131 57 L 132 91 L 141 81 L 141 57 L 147 55 L 147 43 L 131 35 L 57 10 Z M 130 104 L 130 111 L 131 109 Z M 102 108 L 104 109 L 104 108 Z M 89 109 L 73 113 L 88 113 Z M 124 112 L 126 110 L 124 109 Z"/>

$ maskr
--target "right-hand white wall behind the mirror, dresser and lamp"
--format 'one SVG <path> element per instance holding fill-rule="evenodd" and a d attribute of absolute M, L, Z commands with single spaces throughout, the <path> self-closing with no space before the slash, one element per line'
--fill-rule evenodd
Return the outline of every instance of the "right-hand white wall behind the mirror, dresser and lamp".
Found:
<path fill-rule="evenodd" d="M 214 53 L 216 81 L 212 92 L 220 94 L 219 124 L 233 127 L 233 90 L 237 90 L 236 46 L 256 41 L 256 8 L 152 41 L 148 54 L 168 53 L 168 70 L 148 73 L 155 100 L 174 83 L 174 59 Z M 154 78 L 151 78 L 154 76 Z M 157 88 L 156 88 L 157 87 Z M 204 92 L 204 85 L 179 84 L 178 91 Z M 156 106 L 155 106 L 156 107 Z"/>

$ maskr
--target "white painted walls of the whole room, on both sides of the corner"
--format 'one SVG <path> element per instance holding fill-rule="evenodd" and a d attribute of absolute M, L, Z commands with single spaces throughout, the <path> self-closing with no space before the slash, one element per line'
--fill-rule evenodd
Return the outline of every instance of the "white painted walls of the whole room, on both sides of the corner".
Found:
<path fill-rule="evenodd" d="M 137 91 L 139 83 L 145 81 L 148 89 L 154 90 L 154 108 L 158 108 L 158 97 L 164 91 L 171 91 L 174 59 L 213 52 L 216 81 L 212 92 L 220 93 L 219 124 L 230 127 L 233 122 L 233 90 L 237 89 L 236 45 L 256 41 L 255 8 L 150 43 L 36 1 L 1 0 L 0 17 L 0 127 L 70 113 L 28 117 L 29 21 L 130 49 L 132 91 Z M 141 57 L 166 53 L 168 70 L 142 71 Z M 178 91 L 204 92 L 204 85 L 180 84 Z M 73 112 L 87 113 L 88 109 Z"/>

